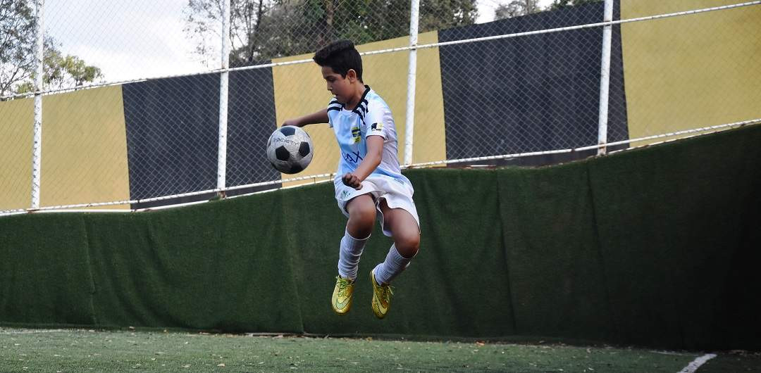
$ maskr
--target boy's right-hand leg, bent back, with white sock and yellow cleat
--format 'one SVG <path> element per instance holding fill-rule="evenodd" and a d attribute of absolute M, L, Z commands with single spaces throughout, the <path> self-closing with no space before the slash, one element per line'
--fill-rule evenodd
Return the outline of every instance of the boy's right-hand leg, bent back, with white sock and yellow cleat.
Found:
<path fill-rule="evenodd" d="M 412 214 L 400 208 L 390 208 L 386 201 L 380 202 L 384 215 L 384 227 L 391 231 L 394 244 L 386 255 L 386 260 L 378 264 L 370 273 L 373 285 L 373 313 L 384 318 L 391 302 L 389 283 L 409 266 L 409 261 L 418 253 L 420 230 Z"/>

